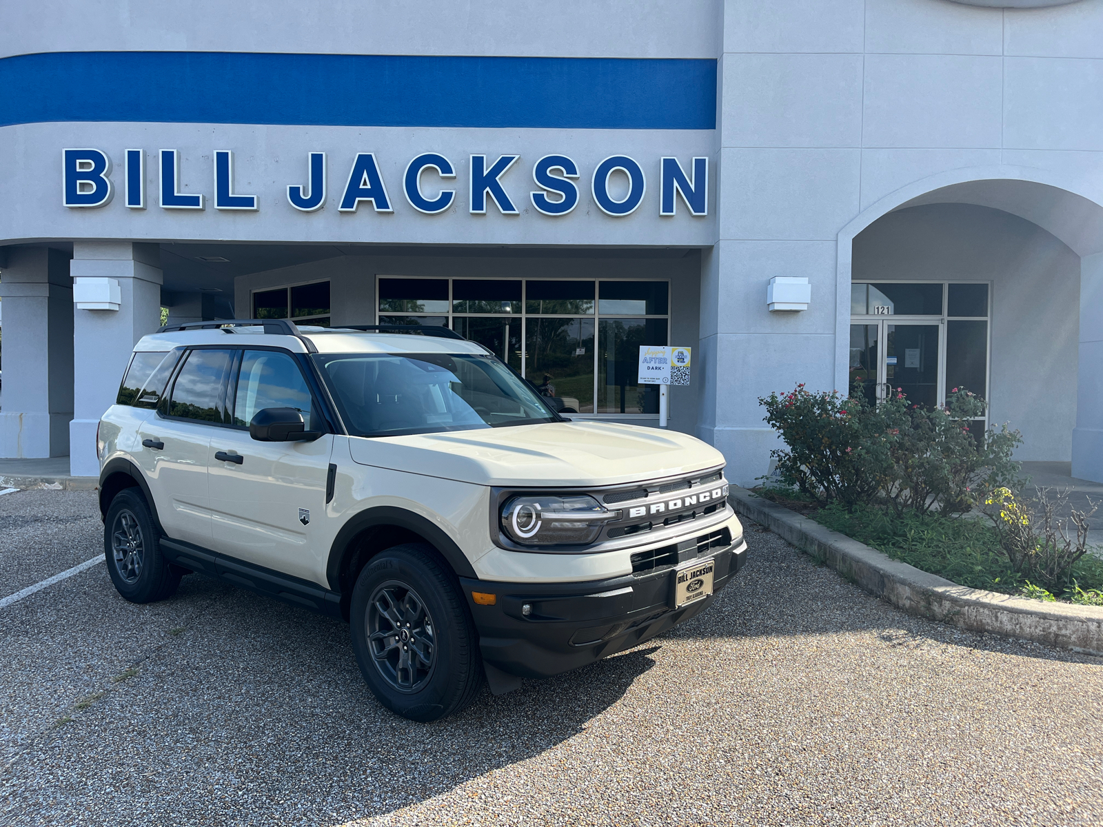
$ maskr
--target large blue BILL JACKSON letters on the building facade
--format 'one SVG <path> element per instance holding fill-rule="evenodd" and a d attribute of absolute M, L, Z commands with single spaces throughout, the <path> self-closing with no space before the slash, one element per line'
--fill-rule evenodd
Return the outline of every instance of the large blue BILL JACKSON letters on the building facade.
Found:
<path fill-rule="evenodd" d="M 521 155 L 499 155 L 488 161 L 488 155 L 471 155 L 468 185 L 468 210 L 474 215 L 486 213 L 488 196 L 503 215 L 517 215 L 516 203 L 505 191 L 502 178 L 516 164 Z M 157 197 L 162 210 L 203 210 L 205 200 L 201 193 L 182 192 L 181 158 L 174 149 L 159 152 Z M 326 203 L 324 152 L 310 152 L 307 157 L 306 184 L 292 183 L 287 187 L 288 203 L 304 213 L 321 210 Z M 622 172 L 629 182 L 628 192 L 620 200 L 610 194 L 609 179 L 614 172 Z M 259 210 L 256 195 L 243 195 L 234 191 L 234 153 L 228 149 L 214 152 L 214 208 L 215 210 Z M 403 174 L 401 190 L 406 202 L 419 213 L 437 215 L 452 206 L 456 190 L 433 192 L 426 197 L 422 179 L 428 176 L 449 182 L 456 178 L 452 162 L 437 152 L 426 152 L 414 158 Z M 537 190 L 528 193 L 533 206 L 543 215 L 561 216 L 578 205 L 578 164 L 567 155 L 544 155 L 533 164 L 533 181 Z M 127 207 L 144 210 L 146 151 L 128 149 L 124 162 L 124 195 Z M 689 171 L 683 169 L 676 158 L 660 160 L 658 214 L 674 215 L 681 196 L 690 215 L 708 215 L 708 159 L 694 158 Z M 396 182 L 392 182 L 394 184 Z M 607 215 L 621 217 L 631 215 L 643 203 L 647 181 L 640 164 L 628 155 L 610 155 L 593 169 L 590 193 L 595 203 Z M 62 194 L 67 207 L 101 207 L 111 201 L 115 184 L 111 179 L 111 159 L 98 149 L 66 149 L 62 152 Z M 393 213 L 394 202 L 387 184 L 379 173 L 375 154 L 361 152 L 349 170 L 349 178 L 338 210 L 354 213 L 362 203 L 371 203 L 377 213 Z"/>

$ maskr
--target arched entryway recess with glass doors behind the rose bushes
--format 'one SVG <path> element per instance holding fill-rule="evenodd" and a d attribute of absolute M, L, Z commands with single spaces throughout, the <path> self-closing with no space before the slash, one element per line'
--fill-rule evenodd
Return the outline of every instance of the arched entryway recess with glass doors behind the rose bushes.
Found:
<path fill-rule="evenodd" d="M 836 384 L 941 404 L 953 386 L 1022 431 L 1019 459 L 1103 481 L 1103 206 L 1042 171 L 959 170 L 839 236 Z"/>

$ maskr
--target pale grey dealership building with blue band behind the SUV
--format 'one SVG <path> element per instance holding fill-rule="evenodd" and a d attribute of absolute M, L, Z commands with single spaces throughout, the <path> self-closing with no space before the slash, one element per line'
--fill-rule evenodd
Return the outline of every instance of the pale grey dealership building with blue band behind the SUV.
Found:
<path fill-rule="evenodd" d="M 0 457 L 98 473 L 161 324 L 446 325 L 770 470 L 959 386 L 1103 481 L 1103 0 L 8 3 Z"/>

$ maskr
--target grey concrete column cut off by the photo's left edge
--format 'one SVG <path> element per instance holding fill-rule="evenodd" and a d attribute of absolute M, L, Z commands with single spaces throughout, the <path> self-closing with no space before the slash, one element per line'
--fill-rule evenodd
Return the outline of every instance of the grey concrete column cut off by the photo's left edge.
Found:
<path fill-rule="evenodd" d="M 73 284 L 68 255 L 8 248 L 0 457 L 64 457 L 73 418 Z"/>

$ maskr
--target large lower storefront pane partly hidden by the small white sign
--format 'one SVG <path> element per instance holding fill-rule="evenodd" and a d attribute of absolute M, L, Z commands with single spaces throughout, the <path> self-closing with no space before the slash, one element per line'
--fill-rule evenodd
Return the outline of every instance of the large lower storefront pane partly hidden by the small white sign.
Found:
<path fill-rule="evenodd" d="M 640 384 L 640 346 L 665 344 L 665 319 L 600 321 L 598 414 L 658 412 L 658 386 Z"/>

